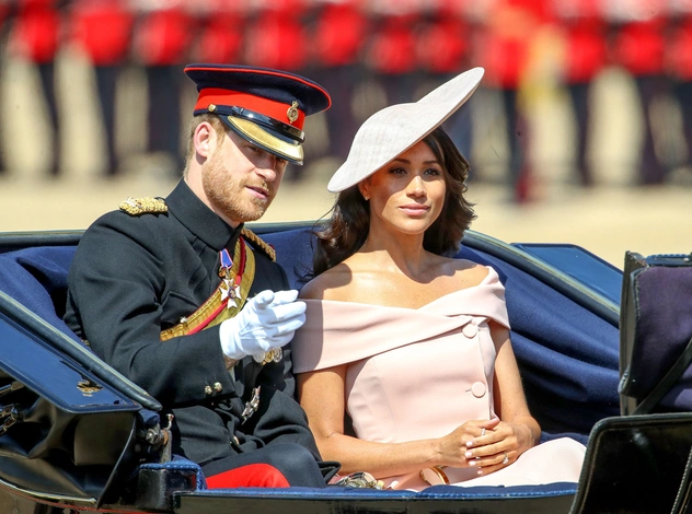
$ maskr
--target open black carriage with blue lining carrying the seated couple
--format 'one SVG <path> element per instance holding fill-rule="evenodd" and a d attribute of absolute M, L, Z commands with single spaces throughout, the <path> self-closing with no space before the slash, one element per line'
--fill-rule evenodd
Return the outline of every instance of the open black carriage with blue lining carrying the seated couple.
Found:
<path fill-rule="evenodd" d="M 312 256 L 311 224 L 252 229 L 276 247 L 291 285 L 300 288 Z M 80 236 L 0 234 L 0 512 L 687 512 L 692 416 L 680 406 L 658 409 L 679 412 L 651 406 L 633 414 L 638 401 L 625 396 L 627 387 L 621 387 L 621 409 L 619 382 L 628 376 L 623 362 L 633 358 L 631 351 L 621 358 L 621 336 L 632 338 L 633 329 L 621 334 L 619 327 L 631 326 L 637 313 L 630 301 L 621 313 L 623 272 L 580 247 L 506 244 L 469 231 L 458 255 L 498 271 L 543 439 L 567 435 L 587 444 L 578 483 L 209 490 L 196 464 L 171 454 L 157 399 L 62 323 Z M 631 269 L 646 266 L 631 261 L 627 285 Z M 681 373 L 683 364 L 677 363 Z M 667 372 L 667 365 L 657 371 Z M 628 390 L 646 397 L 657 382 L 649 376 L 648 386 Z"/>

